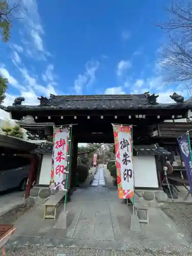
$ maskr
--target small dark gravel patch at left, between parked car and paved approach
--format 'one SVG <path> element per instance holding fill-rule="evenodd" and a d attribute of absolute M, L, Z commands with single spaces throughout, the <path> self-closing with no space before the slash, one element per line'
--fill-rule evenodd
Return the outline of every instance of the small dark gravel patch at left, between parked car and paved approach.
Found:
<path fill-rule="evenodd" d="M 6 214 L 0 216 L 0 224 L 14 224 L 16 220 L 22 217 L 26 211 L 28 211 L 31 207 L 26 205 L 20 205 L 12 210 L 8 211 Z"/>

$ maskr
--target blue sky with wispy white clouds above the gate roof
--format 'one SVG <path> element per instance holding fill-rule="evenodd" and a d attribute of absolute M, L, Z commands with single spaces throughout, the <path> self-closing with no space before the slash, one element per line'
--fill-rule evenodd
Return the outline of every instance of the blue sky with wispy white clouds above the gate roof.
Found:
<path fill-rule="evenodd" d="M 164 86 L 158 53 L 167 0 L 19 0 L 11 39 L 0 42 L 0 73 L 9 79 L 5 104 L 49 94 L 130 94 Z M 178 91 L 178 90 L 177 90 Z M 7 116 L 1 112 L 2 117 Z"/>

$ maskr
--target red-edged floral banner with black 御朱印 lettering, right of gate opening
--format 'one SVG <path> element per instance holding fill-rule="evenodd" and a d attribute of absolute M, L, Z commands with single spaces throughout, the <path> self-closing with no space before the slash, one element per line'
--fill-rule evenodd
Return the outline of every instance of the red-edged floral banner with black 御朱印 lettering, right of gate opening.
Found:
<path fill-rule="evenodd" d="M 134 196 L 132 127 L 113 124 L 117 186 L 120 199 Z"/>

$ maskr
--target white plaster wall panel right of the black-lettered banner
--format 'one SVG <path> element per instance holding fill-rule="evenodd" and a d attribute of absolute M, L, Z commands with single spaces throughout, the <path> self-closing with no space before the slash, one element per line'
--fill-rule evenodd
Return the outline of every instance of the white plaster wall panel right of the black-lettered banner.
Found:
<path fill-rule="evenodd" d="M 155 156 L 135 156 L 133 165 L 136 187 L 158 187 Z"/>

